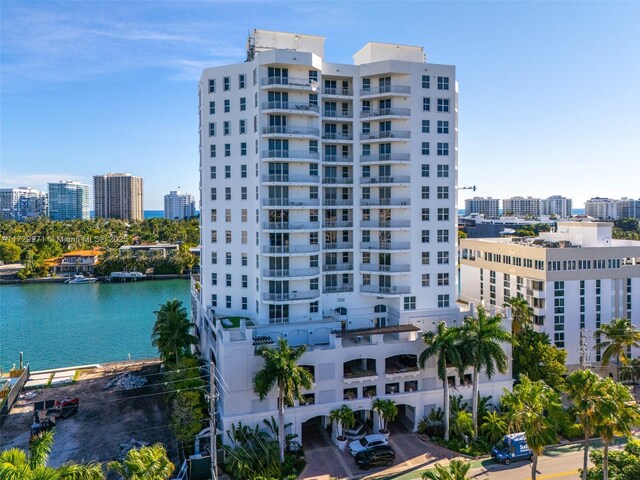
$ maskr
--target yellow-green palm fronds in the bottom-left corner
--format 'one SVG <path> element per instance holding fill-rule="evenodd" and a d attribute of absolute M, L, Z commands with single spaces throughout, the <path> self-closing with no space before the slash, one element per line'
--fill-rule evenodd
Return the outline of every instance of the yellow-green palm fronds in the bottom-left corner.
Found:
<path fill-rule="evenodd" d="M 29 443 L 29 453 L 12 448 L 0 453 L 0 478 L 3 480 L 103 480 L 99 463 L 80 465 L 68 462 L 54 468 L 47 467 L 53 447 L 53 430 L 36 435 Z"/>

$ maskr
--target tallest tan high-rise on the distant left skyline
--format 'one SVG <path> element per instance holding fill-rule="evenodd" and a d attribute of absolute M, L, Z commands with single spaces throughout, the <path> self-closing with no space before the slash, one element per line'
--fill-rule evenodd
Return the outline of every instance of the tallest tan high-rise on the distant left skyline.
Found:
<path fill-rule="evenodd" d="M 93 177 L 95 218 L 143 219 L 143 181 L 130 173 Z"/>

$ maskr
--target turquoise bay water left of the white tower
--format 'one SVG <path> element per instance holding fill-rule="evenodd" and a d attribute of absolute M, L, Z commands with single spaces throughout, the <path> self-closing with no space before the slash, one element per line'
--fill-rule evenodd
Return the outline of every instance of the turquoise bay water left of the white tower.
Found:
<path fill-rule="evenodd" d="M 0 287 L 0 366 L 32 370 L 151 358 L 153 312 L 167 300 L 189 312 L 188 280 Z"/>

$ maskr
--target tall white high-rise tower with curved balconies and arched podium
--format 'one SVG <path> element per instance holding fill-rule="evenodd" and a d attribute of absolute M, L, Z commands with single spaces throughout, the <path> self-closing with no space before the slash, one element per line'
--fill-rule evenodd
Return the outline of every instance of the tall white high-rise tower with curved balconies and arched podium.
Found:
<path fill-rule="evenodd" d="M 455 68 L 421 47 L 369 43 L 354 64 L 324 38 L 254 31 L 247 61 L 200 81 L 199 351 L 215 359 L 222 426 L 277 416 L 252 378 L 260 345 L 307 345 L 314 384 L 292 431 L 343 403 L 373 425 L 393 398 L 415 427 L 442 406 L 421 333 L 459 324 Z M 471 398 L 470 375 L 450 382 Z M 500 396 L 510 374 L 481 379 Z M 463 386 L 464 385 L 464 386 Z M 335 431 L 335 430 L 334 430 Z M 226 440 L 226 439 L 225 439 Z"/>

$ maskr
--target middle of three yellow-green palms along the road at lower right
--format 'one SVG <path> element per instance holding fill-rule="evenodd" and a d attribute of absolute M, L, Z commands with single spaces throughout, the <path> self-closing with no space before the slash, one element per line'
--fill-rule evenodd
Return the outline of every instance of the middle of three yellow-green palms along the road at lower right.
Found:
<path fill-rule="evenodd" d="M 576 370 L 566 379 L 566 392 L 573 402 L 584 431 L 584 457 L 582 480 L 587 480 L 589 468 L 589 439 L 593 436 L 601 415 L 601 399 L 604 397 L 602 378 L 591 370 Z"/>

